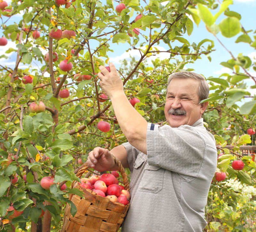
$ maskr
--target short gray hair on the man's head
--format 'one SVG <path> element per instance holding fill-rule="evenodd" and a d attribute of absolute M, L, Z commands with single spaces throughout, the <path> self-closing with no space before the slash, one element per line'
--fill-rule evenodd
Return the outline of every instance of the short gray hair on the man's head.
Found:
<path fill-rule="evenodd" d="M 202 101 L 209 96 L 209 86 L 205 78 L 201 74 L 197 74 L 195 72 L 188 72 L 188 71 L 180 71 L 180 72 L 174 72 L 172 73 L 167 81 L 167 90 L 169 87 L 169 84 L 172 79 L 174 78 L 181 78 L 181 79 L 195 79 L 199 81 L 199 87 L 197 90 L 197 94 L 199 96 L 199 100 Z"/>

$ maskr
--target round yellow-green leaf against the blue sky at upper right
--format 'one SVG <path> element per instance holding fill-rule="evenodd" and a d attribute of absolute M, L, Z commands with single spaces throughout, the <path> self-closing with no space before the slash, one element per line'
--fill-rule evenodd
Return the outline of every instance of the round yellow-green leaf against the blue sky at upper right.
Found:
<path fill-rule="evenodd" d="M 223 19 L 220 24 L 220 32 L 223 36 L 231 38 L 241 31 L 240 21 L 234 17 Z"/>

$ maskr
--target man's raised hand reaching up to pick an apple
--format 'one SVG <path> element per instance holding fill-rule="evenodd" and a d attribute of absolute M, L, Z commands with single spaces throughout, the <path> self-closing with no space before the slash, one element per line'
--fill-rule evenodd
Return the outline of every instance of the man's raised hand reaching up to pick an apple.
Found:
<path fill-rule="evenodd" d="M 100 79 L 100 87 L 111 99 L 113 94 L 124 93 L 124 86 L 119 77 L 116 67 L 113 63 L 109 63 L 110 72 L 102 65 L 99 69 L 102 73 L 98 73 Z"/>

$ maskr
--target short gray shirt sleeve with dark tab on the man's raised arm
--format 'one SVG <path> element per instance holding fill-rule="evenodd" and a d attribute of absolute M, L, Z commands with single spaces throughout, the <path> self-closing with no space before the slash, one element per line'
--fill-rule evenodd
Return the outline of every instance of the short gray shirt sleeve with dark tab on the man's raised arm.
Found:
<path fill-rule="evenodd" d="M 204 161 L 205 142 L 194 127 L 148 123 L 148 164 L 196 177 Z"/>

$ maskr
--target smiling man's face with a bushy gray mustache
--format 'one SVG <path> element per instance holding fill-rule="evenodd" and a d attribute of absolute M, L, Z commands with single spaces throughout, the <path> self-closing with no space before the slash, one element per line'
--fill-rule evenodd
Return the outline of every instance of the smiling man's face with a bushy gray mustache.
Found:
<path fill-rule="evenodd" d="M 195 79 L 172 79 L 168 86 L 164 115 L 171 127 L 193 125 L 201 118 L 205 104 L 198 105 L 199 81 Z"/>

